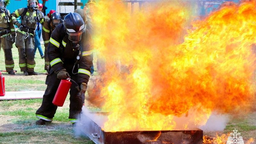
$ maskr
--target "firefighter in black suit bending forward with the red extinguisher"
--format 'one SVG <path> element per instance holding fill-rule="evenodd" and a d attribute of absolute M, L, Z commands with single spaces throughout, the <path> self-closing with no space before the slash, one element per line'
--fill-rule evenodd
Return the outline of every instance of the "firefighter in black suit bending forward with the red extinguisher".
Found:
<path fill-rule="evenodd" d="M 79 118 L 84 104 L 84 93 L 90 78 L 92 66 L 92 36 L 86 29 L 86 22 L 78 13 L 69 13 L 64 23 L 52 32 L 48 45 L 50 61 L 49 75 L 46 77 L 45 90 L 41 107 L 36 111 L 37 125 L 52 122 L 57 106 L 52 100 L 61 79 L 72 79 L 70 88 L 69 120 L 72 124 Z M 73 82 L 75 81 L 75 82 Z M 77 86 L 78 85 L 78 86 Z M 80 88 L 79 88 L 80 86 Z"/>

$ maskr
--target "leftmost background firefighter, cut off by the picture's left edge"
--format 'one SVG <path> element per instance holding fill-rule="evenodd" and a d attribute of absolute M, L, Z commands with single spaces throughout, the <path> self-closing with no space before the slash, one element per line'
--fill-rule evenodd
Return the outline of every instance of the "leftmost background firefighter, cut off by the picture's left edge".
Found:
<path fill-rule="evenodd" d="M 5 8 L 4 0 L 0 0 L 0 39 L 4 51 L 5 68 L 8 74 L 15 75 L 13 72 L 12 44 L 15 42 L 16 32 L 11 22 L 10 11 Z"/>

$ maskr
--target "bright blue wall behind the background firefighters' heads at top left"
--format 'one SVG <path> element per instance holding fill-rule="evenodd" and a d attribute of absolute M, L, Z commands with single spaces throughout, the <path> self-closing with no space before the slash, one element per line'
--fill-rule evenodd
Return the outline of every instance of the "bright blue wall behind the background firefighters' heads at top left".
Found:
<path fill-rule="evenodd" d="M 39 3 L 43 3 L 42 0 L 39 0 Z M 45 6 L 47 7 L 46 13 L 49 13 L 50 10 L 56 10 L 56 1 L 48 0 L 45 2 Z M 27 0 L 10 0 L 10 4 L 6 6 L 6 8 L 12 13 L 13 11 L 27 7 Z"/>

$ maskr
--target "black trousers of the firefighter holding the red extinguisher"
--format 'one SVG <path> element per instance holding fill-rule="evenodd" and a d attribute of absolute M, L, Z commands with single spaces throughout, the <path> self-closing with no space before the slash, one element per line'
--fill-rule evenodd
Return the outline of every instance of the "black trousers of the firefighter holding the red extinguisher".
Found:
<path fill-rule="evenodd" d="M 73 66 L 69 65 L 68 68 L 72 70 Z M 64 67 L 65 68 L 65 67 Z M 72 74 L 71 71 L 68 71 L 69 74 Z M 77 82 L 77 74 L 70 75 L 72 79 Z M 52 100 L 55 96 L 55 93 L 59 87 L 60 79 L 57 79 L 57 75 L 53 72 L 53 69 L 50 70 L 49 75 L 46 77 L 45 84 L 47 84 L 47 88 L 44 92 L 43 101 L 41 107 L 36 111 L 36 114 L 43 115 L 47 118 L 53 118 L 56 113 L 57 106 L 52 104 Z M 82 106 L 84 103 L 84 96 L 77 96 L 78 91 L 76 89 L 76 84 L 72 83 L 69 91 L 70 94 L 70 104 L 69 104 L 69 119 L 76 119 L 79 113 L 82 110 Z M 66 99 L 67 100 L 67 99 Z"/>

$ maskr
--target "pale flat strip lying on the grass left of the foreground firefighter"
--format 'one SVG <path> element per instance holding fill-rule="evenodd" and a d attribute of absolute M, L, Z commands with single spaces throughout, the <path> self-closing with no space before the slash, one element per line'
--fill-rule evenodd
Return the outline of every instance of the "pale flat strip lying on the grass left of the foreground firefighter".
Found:
<path fill-rule="evenodd" d="M 43 98 L 44 91 L 6 91 L 0 100 Z"/>

